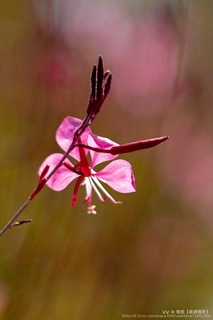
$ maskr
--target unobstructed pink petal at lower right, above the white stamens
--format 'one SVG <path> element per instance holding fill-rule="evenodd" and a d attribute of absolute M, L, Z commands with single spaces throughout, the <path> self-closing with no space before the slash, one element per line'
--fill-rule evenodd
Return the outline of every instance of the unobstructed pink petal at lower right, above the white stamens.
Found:
<path fill-rule="evenodd" d="M 101 178 L 111 188 L 121 193 L 136 191 L 131 164 L 126 160 L 115 160 L 93 176 Z"/>

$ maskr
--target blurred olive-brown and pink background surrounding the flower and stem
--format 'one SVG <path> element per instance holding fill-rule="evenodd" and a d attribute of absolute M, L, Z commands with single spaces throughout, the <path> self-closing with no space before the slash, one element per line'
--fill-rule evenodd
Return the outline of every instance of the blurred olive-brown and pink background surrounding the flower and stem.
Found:
<path fill-rule="evenodd" d="M 101 54 L 113 86 L 92 131 L 119 144 L 169 135 L 130 161 L 136 193 L 87 215 L 74 182 L 45 187 L 0 240 L 0 317 L 120 319 L 209 309 L 212 297 L 212 2 L 1 1 L 1 228 L 85 116 Z M 106 164 L 99 165 L 103 168 Z"/>

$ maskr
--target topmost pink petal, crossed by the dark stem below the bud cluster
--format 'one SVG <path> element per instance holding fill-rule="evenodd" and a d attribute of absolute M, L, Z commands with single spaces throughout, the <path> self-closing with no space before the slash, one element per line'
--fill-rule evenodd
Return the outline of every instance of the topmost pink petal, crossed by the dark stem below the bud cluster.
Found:
<path fill-rule="evenodd" d="M 66 117 L 56 132 L 56 141 L 64 151 L 67 151 L 72 143 L 72 139 L 76 129 L 80 126 L 82 120 L 73 117 Z M 88 134 L 91 133 L 91 129 L 87 127 L 85 132 L 81 135 L 81 141 L 87 144 Z M 85 149 L 86 154 L 88 150 Z M 80 161 L 79 149 L 74 148 L 70 152 L 70 156 Z"/>

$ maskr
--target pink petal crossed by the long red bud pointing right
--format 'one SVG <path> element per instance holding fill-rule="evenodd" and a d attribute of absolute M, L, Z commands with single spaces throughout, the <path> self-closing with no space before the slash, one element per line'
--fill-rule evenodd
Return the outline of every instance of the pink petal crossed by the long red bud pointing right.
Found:
<path fill-rule="evenodd" d="M 118 143 L 108 139 L 96 136 L 95 134 L 90 133 L 88 136 L 88 146 L 94 147 L 94 148 L 102 148 L 109 150 L 112 147 L 119 146 Z M 102 153 L 102 152 L 96 152 L 90 150 L 92 163 L 91 168 L 94 168 L 95 165 L 102 163 L 104 161 L 109 161 L 115 159 L 118 155 L 111 155 L 110 153 Z"/>

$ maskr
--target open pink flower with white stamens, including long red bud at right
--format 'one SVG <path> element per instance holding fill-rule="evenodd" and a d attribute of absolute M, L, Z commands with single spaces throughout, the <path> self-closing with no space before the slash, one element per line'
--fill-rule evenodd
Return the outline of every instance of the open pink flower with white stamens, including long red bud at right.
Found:
<path fill-rule="evenodd" d="M 70 147 L 74 133 L 81 123 L 82 121 L 80 119 L 67 117 L 58 128 L 56 141 L 64 151 L 67 151 Z M 95 214 L 95 206 L 91 205 L 92 190 L 96 192 L 102 202 L 104 202 L 104 198 L 99 189 L 111 202 L 115 204 L 121 203 L 117 202 L 107 192 L 103 187 L 102 182 L 121 193 L 135 192 L 136 189 L 132 166 L 126 160 L 115 160 L 99 172 L 95 172 L 94 167 L 102 162 L 115 159 L 119 153 L 150 148 L 167 139 L 168 137 L 157 138 L 119 146 L 118 143 L 113 142 L 108 138 L 92 134 L 91 129 L 87 127 L 85 132 L 81 135 L 81 138 L 78 140 L 76 148 L 73 148 L 69 153 L 69 155 L 76 159 L 78 163 L 73 165 L 66 159 L 63 162 L 63 165 L 47 181 L 47 185 L 55 191 L 60 191 L 65 189 L 72 180 L 77 178 L 74 187 L 72 207 L 75 206 L 78 188 L 85 185 L 86 197 L 84 201 L 87 201 L 89 204 L 87 213 Z M 87 160 L 87 147 L 90 148 L 90 165 Z M 48 156 L 39 168 L 38 174 L 40 179 L 43 179 L 46 176 L 48 170 L 52 171 L 63 156 L 64 155 L 60 153 L 54 153 Z"/>

